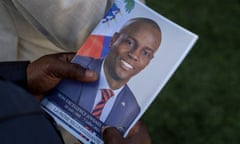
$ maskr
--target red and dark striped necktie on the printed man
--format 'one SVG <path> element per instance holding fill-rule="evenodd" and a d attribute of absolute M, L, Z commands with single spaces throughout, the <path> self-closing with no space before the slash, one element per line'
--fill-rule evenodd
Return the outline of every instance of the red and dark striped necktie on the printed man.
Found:
<path fill-rule="evenodd" d="M 102 99 L 97 103 L 92 111 L 92 115 L 100 119 L 102 110 L 107 103 L 107 101 L 114 95 L 111 89 L 101 89 Z"/>

